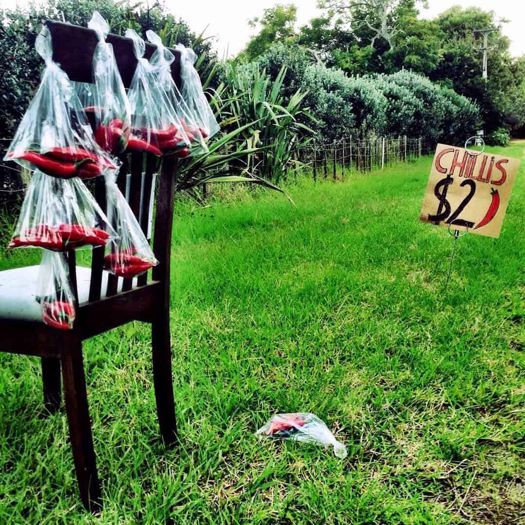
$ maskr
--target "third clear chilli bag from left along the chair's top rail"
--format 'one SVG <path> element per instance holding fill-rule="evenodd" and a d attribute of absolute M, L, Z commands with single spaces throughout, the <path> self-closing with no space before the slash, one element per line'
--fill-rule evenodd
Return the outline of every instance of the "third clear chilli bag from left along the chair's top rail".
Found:
<path fill-rule="evenodd" d="M 125 36 L 133 40 L 133 50 L 138 64 L 128 91 L 131 106 L 131 134 L 128 150 L 138 150 L 155 155 L 190 153 L 186 133 L 180 119 L 163 89 L 160 88 L 156 68 L 144 57 L 144 40 L 126 29 Z"/>

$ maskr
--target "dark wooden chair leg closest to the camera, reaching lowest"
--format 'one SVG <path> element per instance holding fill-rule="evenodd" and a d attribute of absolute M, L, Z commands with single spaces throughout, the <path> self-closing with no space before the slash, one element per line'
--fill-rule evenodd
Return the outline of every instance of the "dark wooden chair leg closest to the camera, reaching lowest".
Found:
<path fill-rule="evenodd" d="M 102 507 L 95 450 L 91 436 L 86 379 L 82 362 L 82 342 L 71 333 L 72 344 L 62 352 L 62 380 L 73 460 L 80 498 L 91 512 Z"/>

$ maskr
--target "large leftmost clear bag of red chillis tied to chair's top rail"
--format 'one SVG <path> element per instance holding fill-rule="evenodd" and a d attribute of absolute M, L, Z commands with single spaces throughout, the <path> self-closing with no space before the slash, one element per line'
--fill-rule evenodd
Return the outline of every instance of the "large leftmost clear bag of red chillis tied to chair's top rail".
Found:
<path fill-rule="evenodd" d="M 4 160 L 60 178 L 90 178 L 114 169 L 114 163 L 95 143 L 68 76 L 52 60 L 51 35 L 46 26 L 35 47 L 46 68 Z"/>

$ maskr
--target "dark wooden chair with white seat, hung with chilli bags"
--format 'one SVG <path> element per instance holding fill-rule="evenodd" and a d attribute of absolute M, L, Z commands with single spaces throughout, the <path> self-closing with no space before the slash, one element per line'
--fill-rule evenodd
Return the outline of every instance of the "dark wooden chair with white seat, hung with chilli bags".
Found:
<path fill-rule="evenodd" d="M 92 55 L 97 44 L 94 31 L 83 27 L 47 23 L 53 37 L 53 59 L 71 80 L 91 82 Z M 113 45 L 125 87 L 129 87 L 137 60 L 132 41 L 108 35 Z M 146 44 L 146 58 L 155 49 Z M 174 80 L 180 82 L 180 55 L 172 66 Z M 69 331 L 45 325 L 35 301 L 38 266 L 0 272 L 0 351 L 37 355 L 41 358 L 44 404 L 56 411 L 61 402 L 60 371 L 64 384 L 66 412 L 80 497 L 91 511 L 101 508 L 100 482 L 86 396 L 82 341 L 129 321 L 151 323 L 153 381 L 160 433 L 166 444 L 175 440 L 175 413 L 171 374 L 170 344 L 170 250 L 176 161 L 164 159 L 160 176 L 155 172 L 158 158 L 132 153 L 124 160 L 118 184 L 127 196 L 146 235 L 155 201 L 153 251 L 159 265 L 147 276 L 122 279 L 102 270 L 103 248 L 92 253 L 91 268 L 76 266 L 75 251 L 69 251 L 71 281 L 77 297 L 77 318 Z M 143 167 L 145 165 L 145 172 Z M 96 180 L 95 196 L 105 207 L 105 186 Z M 152 190 L 153 188 L 153 190 Z"/>

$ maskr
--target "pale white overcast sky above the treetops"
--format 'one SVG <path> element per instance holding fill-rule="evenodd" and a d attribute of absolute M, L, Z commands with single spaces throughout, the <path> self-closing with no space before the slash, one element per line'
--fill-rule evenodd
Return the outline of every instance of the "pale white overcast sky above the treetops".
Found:
<path fill-rule="evenodd" d="M 38 0 L 37 3 L 42 2 Z M 266 7 L 277 3 L 295 3 L 298 7 L 298 24 L 306 24 L 310 18 L 318 16 L 317 0 L 165 0 L 167 8 L 180 16 L 196 33 L 207 25 L 206 35 L 216 36 L 215 47 L 222 55 L 229 49 L 229 55 L 237 53 L 244 47 L 249 36 L 256 30 L 248 26 L 248 20 L 262 15 Z M 26 5 L 28 0 L 0 0 L 0 7 L 13 7 L 16 4 Z M 150 3 L 152 1 L 150 0 Z M 513 55 L 525 54 L 525 2 L 523 0 L 428 0 L 428 9 L 421 9 L 421 16 L 431 18 L 451 5 L 463 7 L 475 5 L 485 10 L 493 9 L 500 18 L 507 18 L 503 26 L 505 33 L 512 41 L 510 51 Z M 67 13 L 65 13 L 67 21 Z"/>

